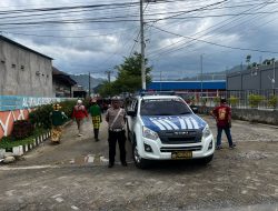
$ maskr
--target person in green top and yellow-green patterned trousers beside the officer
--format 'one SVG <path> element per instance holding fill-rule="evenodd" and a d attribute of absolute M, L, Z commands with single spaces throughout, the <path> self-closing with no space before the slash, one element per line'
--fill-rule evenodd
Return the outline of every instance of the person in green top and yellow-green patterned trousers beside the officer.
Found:
<path fill-rule="evenodd" d="M 101 120 L 101 109 L 98 105 L 96 99 L 91 100 L 91 107 L 89 109 L 89 113 L 91 114 L 91 119 L 92 119 L 95 140 L 99 141 L 99 127 L 102 120 Z"/>

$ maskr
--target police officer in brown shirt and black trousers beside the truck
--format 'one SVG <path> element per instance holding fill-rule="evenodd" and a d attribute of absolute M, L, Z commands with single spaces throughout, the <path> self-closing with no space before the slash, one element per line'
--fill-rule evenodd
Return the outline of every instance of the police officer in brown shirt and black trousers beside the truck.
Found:
<path fill-rule="evenodd" d="M 118 141 L 120 149 L 120 161 L 123 167 L 127 167 L 126 161 L 126 131 L 125 120 L 126 111 L 120 108 L 121 100 L 119 97 L 111 99 L 111 108 L 107 110 L 106 121 L 108 122 L 108 143 L 109 143 L 109 165 L 112 168 L 115 164 L 116 144 Z"/>

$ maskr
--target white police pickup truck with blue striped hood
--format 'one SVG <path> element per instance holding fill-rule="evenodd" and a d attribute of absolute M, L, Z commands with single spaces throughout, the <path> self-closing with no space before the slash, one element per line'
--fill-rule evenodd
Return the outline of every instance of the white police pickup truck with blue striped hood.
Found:
<path fill-rule="evenodd" d="M 127 109 L 128 139 L 138 168 L 149 160 L 199 159 L 215 152 L 209 125 L 177 96 L 136 97 Z"/>

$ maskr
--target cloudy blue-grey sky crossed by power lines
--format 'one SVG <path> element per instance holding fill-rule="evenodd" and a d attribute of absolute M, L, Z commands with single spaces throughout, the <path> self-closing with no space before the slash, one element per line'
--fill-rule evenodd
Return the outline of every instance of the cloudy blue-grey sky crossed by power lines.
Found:
<path fill-rule="evenodd" d="M 153 0 L 152 0 L 153 1 Z M 0 31 L 53 58 L 68 73 L 106 78 L 140 52 L 139 0 L 0 0 Z M 156 0 L 143 3 L 152 79 L 219 72 L 251 54 L 278 58 L 276 0 Z M 201 59 L 202 58 L 202 59 Z"/>

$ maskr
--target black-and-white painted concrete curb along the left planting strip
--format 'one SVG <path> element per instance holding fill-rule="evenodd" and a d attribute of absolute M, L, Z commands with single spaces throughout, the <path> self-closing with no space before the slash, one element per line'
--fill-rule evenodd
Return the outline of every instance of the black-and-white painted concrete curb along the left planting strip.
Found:
<path fill-rule="evenodd" d="M 46 133 L 34 138 L 32 143 L 26 145 L 18 145 L 10 149 L 0 149 L 0 158 L 2 158 L 7 152 L 11 152 L 13 155 L 23 155 L 26 152 L 32 150 L 41 142 L 46 141 L 49 137 L 50 137 L 50 131 L 47 131 Z"/>

